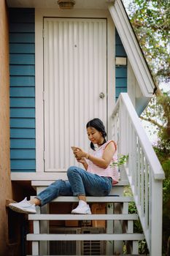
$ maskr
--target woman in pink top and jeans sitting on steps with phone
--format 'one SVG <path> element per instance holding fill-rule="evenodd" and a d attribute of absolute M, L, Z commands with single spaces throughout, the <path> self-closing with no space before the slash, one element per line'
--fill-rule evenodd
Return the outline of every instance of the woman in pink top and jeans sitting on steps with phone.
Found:
<path fill-rule="evenodd" d="M 44 206 L 60 195 L 77 195 L 79 204 L 72 210 L 72 214 L 91 214 L 86 195 L 109 195 L 112 184 L 118 182 L 117 168 L 110 167 L 110 163 L 115 161 L 117 146 L 113 140 L 105 139 L 107 133 L 100 119 L 89 121 L 86 129 L 90 140 L 90 153 L 82 148 L 74 148 L 74 156 L 85 170 L 77 166 L 69 167 L 68 181 L 55 181 L 33 199 L 28 201 L 25 198 L 20 203 L 10 203 L 9 208 L 20 213 L 36 214 L 35 206 Z"/>

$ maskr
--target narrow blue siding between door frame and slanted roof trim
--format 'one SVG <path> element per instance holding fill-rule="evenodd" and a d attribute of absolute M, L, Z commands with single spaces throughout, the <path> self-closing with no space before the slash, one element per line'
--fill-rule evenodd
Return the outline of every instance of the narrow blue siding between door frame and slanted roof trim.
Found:
<path fill-rule="evenodd" d="M 127 57 L 125 53 L 125 49 L 123 48 L 123 44 L 121 39 L 117 33 L 115 33 L 115 56 L 116 57 Z M 127 92 L 127 67 L 116 67 L 116 100 L 119 97 L 120 92 Z"/>

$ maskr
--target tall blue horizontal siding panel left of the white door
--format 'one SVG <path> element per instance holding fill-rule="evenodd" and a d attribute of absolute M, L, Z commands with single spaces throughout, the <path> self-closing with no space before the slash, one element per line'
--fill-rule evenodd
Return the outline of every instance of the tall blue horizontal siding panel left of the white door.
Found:
<path fill-rule="evenodd" d="M 34 9 L 9 9 L 12 172 L 36 170 L 34 27 Z"/>

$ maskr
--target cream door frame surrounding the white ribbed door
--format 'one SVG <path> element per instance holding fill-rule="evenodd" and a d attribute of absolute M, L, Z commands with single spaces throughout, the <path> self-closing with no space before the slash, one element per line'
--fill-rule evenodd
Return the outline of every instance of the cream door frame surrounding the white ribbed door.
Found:
<path fill-rule="evenodd" d="M 107 19 L 107 135 L 111 139 L 111 116 L 115 105 L 115 25 L 108 10 L 35 9 L 35 99 L 36 99 L 36 172 L 44 173 L 44 67 L 43 23 L 49 18 Z"/>

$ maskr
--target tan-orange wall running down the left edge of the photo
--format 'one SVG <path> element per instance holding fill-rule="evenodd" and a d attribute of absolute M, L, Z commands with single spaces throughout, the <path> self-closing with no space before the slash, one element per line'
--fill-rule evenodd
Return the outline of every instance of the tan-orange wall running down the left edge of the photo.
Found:
<path fill-rule="evenodd" d="M 9 43 L 5 0 L 0 1 L 0 255 L 7 252 L 6 198 L 12 195 L 9 162 Z"/>

